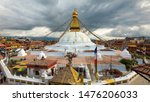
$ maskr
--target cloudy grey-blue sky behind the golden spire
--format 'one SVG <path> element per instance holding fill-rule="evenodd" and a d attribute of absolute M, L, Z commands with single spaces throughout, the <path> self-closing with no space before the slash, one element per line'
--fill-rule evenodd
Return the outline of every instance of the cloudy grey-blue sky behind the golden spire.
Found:
<path fill-rule="evenodd" d="M 0 0 L 0 31 L 50 31 L 74 8 L 95 33 L 150 36 L 150 0 Z"/>

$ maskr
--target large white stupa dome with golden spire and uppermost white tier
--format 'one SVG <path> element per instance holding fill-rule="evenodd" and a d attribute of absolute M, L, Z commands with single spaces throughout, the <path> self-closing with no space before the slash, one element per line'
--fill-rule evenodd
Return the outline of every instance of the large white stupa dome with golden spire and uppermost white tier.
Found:
<path fill-rule="evenodd" d="M 96 44 L 80 30 L 80 22 L 78 20 L 78 12 L 74 10 L 70 30 L 64 32 L 58 43 L 51 46 L 45 46 L 47 51 L 56 50 L 60 52 L 74 52 L 81 54 L 87 50 L 94 50 Z M 98 45 L 98 49 L 105 49 L 104 45 Z"/>

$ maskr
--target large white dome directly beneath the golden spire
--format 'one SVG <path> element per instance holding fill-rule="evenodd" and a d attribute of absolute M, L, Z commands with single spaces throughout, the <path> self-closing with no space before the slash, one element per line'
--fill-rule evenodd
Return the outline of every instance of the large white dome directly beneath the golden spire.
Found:
<path fill-rule="evenodd" d="M 65 35 L 59 40 L 60 45 L 73 45 L 73 46 L 91 46 L 95 45 L 90 38 L 82 32 L 66 32 Z"/>

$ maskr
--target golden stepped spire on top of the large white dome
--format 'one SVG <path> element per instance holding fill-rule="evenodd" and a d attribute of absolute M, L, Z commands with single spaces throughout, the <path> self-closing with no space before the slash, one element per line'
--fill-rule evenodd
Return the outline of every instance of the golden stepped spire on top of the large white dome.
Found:
<path fill-rule="evenodd" d="M 80 24 L 78 20 L 78 11 L 75 9 L 72 13 L 72 22 L 70 25 L 71 32 L 79 32 L 80 31 Z"/>

